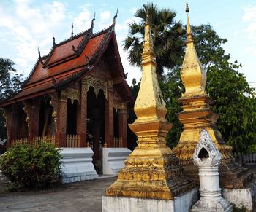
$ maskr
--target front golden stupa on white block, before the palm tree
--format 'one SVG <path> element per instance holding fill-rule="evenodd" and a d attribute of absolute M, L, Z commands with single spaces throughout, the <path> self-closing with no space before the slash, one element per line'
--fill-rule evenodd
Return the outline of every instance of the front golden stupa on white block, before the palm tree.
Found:
<path fill-rule="evenodd" d="M 178 158 L 166 145 L 172 127 L 167 123 L 165 101 L 156 75 L 156 56 L 148 15 L 142 53 L 143 74 L 135 101 L 138 119 L 129 127 L 138 136 L 138 147 L 129 154 L 118 179 L 105 192 L 107 196 L 144 197 L 173 200 L 195 187 L 184 175 Z"/>

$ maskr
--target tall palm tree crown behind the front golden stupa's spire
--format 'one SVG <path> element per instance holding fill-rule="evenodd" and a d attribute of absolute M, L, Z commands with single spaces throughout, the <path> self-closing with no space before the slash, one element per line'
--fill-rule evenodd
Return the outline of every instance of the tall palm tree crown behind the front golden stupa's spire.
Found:
<path fill-rule="evenodd" d="M 129 51 L 129 63 L 140 66 L 143 50 L 144 25 L 148 11 L 151 33 L 157 60 L 157 75 L 161 76 L 164 68 L 171 69 L 181 63 L 184 52 L 184 31 L 180 22 L 176 22 L 176 12 L 170 9 L 158 9 L 156 4 L 147 3 L 135 12 L 140 23 L 132 21 L 129 25 L 129 36 L 124 40 L 124 50 Z"/>

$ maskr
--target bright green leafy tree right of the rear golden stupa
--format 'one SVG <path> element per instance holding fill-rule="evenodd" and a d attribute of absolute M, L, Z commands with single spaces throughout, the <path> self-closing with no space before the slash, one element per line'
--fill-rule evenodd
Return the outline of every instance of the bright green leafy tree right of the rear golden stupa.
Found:
<path fill-rule="evenodd" d="M 250 152 L 256 150 L 256 101 L 254 89 L 238 72 L 240 66 L 235 61 L 222 69 L 208 68 L 207 92 L 215 100 L 217 128 L 224 140 L 236 152 Z"/>

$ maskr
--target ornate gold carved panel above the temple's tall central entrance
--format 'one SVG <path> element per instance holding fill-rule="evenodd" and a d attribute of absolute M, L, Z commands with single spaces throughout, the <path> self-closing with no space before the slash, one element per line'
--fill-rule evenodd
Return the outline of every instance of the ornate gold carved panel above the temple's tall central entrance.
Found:
<path fill-rule="evenodd" d="M 87 81 L 87 91 L 89 90 L 89 87 L 93 87 L 96 96 L 99 95 L 99 90 L 103 90 L 103 93 L 105 97 L 107 97 L 108 92 L 107 92 L 107 82 L 105 82 L 102 79 L 99 79 L 98 77 L 95 76 L 87 76 L 86 77 Z"/>

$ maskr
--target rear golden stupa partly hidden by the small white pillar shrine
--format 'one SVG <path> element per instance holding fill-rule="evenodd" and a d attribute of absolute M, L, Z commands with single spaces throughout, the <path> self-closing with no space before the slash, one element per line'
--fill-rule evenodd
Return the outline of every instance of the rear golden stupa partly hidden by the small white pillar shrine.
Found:
<path fill-rule="evenodd" d="M 173 152 L 181 160 L 187 175 L 198 181 L 198 170 L 193 164 L 193 153 L 199 142 L 200 131 L 205 129 L 212 141 L 222 154 L 222 164 L 219 167 L 222 186 L 243 187 L 248 176 L 243 175 L 245 169 L 234 163 L 231 155 L 232 147 L 225 144 L 221 133 L 217 130 L 218 114 L 212 110 L 214 103 L 206 94 L 206 72 L 197 56 L 195 41 L 189 23 L 189 7 L 187 12 L 187 49 L 181 68 L 181 80 L 184 83 L 185 93 L 179 99 L 182 109 L 178 118 L 183 124 L 183 131 Z"/>

